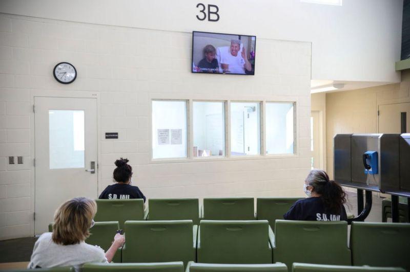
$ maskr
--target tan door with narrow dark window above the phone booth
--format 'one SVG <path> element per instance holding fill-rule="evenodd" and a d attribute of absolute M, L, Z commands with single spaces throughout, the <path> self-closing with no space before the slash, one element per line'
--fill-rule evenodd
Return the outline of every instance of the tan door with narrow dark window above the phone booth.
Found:
<path fill-rule="evenodd" d="M 379 105 L 379 133 L 404 132 L 410 132 L 410 103 Z"/>

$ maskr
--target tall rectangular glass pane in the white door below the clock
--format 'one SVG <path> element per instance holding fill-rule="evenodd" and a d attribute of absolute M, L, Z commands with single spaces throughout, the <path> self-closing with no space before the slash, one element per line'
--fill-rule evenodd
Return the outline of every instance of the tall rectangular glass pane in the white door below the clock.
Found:
<path fill-rule="evenodd" d="M 50 169 L 84 168 L 84 110 L 49 110 Z"/>

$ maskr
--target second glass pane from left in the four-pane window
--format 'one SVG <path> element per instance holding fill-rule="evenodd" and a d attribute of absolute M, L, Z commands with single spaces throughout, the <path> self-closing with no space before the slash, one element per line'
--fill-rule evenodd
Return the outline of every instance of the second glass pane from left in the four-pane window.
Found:
<path fill-rule="evenodd" d="M 194 157 L 225 154 L 224 102 L 194 102 Z"/>

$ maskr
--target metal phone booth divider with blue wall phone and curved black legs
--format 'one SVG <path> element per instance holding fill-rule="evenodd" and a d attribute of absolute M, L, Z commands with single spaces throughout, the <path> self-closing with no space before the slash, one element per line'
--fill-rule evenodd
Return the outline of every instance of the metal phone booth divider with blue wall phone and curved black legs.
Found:
<path fill-rule="evenodd" d="M 334 177 L 340 185 L 357 189 L 358 216 L 349 223 L 368 216 L 372 192 L 392 195 L 392 219 L 398 222 L 398 196 L 410 200 L 410 133 L 336 134 Z"/>

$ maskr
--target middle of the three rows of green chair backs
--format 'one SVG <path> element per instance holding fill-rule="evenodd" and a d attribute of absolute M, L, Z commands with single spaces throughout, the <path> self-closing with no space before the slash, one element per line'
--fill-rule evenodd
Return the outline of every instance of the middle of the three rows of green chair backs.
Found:
<path fill-rule="evenodd" d="M 111 225 L 111 229 L 108 228 Z M 86 242 L 107 250 L 118 222 L 96 222 Z M 99 230 L 101 228 L 101 230 Z M 350 247 L 345 221 L 276 220 L 127 221 L 126 244 L 114 262 L 275 263 L 404 267 L 410 224 L 353 222 Z"/>

